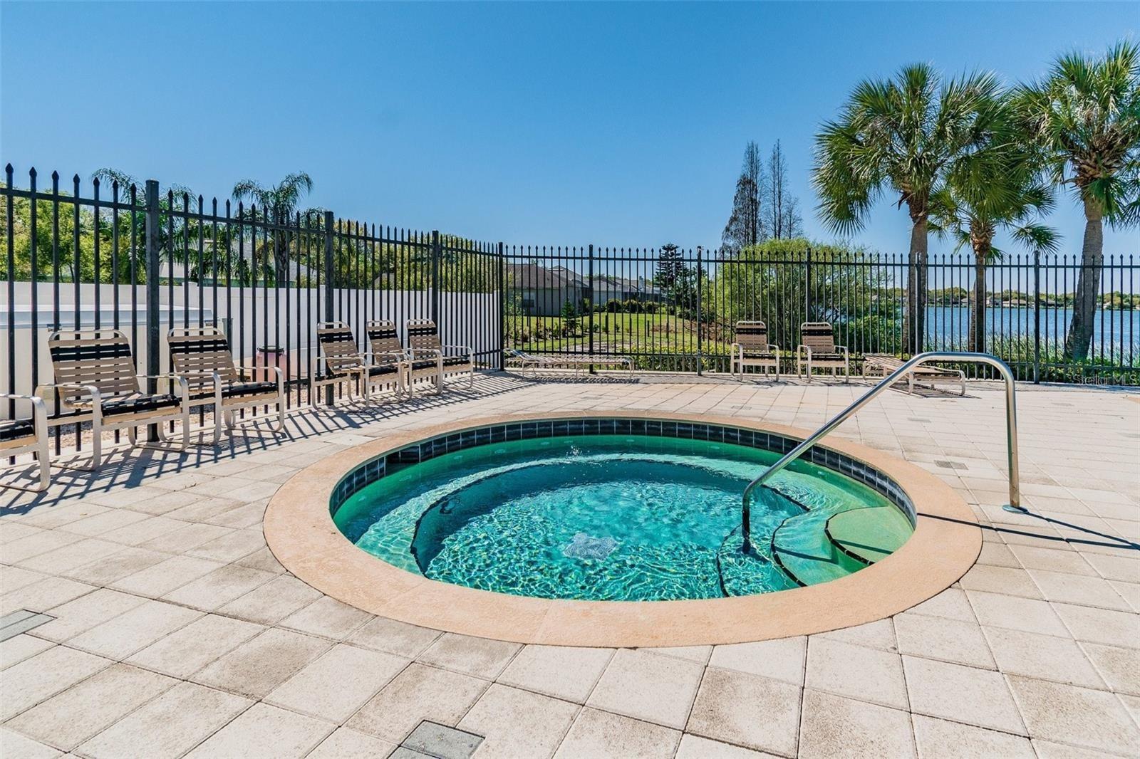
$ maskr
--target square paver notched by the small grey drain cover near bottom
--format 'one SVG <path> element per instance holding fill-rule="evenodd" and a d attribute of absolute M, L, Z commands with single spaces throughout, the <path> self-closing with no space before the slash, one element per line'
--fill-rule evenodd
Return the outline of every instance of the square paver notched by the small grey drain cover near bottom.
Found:
<path fill-rule="evenodd" d="M 475 677 L 413 663 L 345 723 L 368 735 L 401 743 L 422 720 L 455 725 L 488 683 Z"/>

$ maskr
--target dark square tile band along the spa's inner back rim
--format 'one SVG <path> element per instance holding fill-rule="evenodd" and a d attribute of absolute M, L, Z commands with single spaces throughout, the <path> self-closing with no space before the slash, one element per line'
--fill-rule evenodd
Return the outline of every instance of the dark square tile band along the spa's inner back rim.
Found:
<path fill-rule="evenodd" d="M 677 422 L 673 419 L 632 419 L 619 416 L 587 418 L 548 418 L 536 422 L 489 424 L 462 432 L 439 434 L 402 448 L 376 456 L 349 471 L 329 498 L 329 514 L 336 512 L 353 493 L 389 473 L 407 466 L 422 464 L 443 454 L 454 454 L 477 446 L 510 442 L 514 440 L 540 440 L 567 435 L 630 435 L 651 438 L 676 438 L 681 440 L 707 440 L 709 442 L 758 448 L 776 454 L 787 454 L 799 444 L 799 440 L 775 432 L 749 430 L 739 425 L 708 424 L 705 422 Z M 815 446 L 805 459 L 824 468 L 844 474 L 878 491 L 906 514 L 914 524 L 914 504 L 898 483 L 879 470 L 831 448 Z"/>

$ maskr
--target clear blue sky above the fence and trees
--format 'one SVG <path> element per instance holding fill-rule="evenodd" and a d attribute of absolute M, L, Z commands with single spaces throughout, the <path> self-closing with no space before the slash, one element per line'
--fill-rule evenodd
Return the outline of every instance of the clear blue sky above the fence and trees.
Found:
<path fill-rule="evenodd" d="M 746 141 L 812 136 L 865 76 L 1015 82 L 1135 38 L 1129 3 L 0 2 L 0 160 L 225 197 L 306 170 L 339 215 L 508 243 L 716 245 Z M 1080 250 L 1083 218 L 1052 223 Z M 905 250 L 906 214 L 856 238 Z M 1135 230 L 1106 253 L 1135 253 Z M 947 250 L 934 243 L 933 250 Z"/>

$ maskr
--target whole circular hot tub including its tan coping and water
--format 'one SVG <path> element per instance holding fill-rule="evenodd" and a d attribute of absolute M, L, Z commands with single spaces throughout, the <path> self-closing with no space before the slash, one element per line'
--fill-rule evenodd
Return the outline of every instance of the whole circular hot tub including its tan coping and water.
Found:
<path fill-rule="evenodd" d="M 377 440 L 304 470 L 266 534 L 320 590 L 416 625 L 528 643 L 757 640 L 880 619 L 974 562 L 974 515 L 905 462 L 708 417 L 532 416 Z"/>

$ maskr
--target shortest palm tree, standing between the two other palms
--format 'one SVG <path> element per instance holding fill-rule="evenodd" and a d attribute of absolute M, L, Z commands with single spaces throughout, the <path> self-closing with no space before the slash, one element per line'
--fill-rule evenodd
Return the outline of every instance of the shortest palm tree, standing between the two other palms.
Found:
<path fill-rule="evenodd" d="M 1053 207 L 1052 186 L 1017 130 L 1009 99 L 993 107 L 997 115 L 988 144 L 958 160 L 930 201 L 935 231 L 953 237 L 955 250 L 969 245 L 974 251 L 971 351 L 986 350 L 986 268 L 1004 255 L 994 236 L 1004 230 L 1015 242 L 1047 252 L 1056 250 L 1058 240 L 1057 232 L 1039 221 Z"/>

